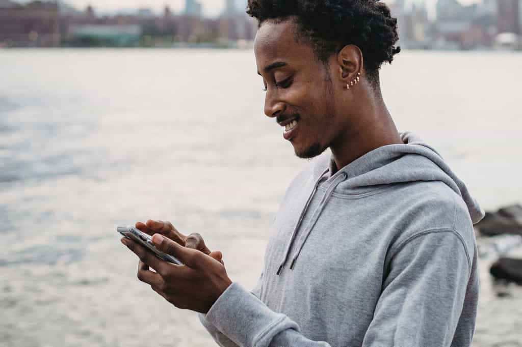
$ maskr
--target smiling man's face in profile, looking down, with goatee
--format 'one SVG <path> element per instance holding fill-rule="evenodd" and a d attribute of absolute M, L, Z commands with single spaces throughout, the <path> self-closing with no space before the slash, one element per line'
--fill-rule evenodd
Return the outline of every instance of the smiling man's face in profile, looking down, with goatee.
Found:
<path fill-rule="evenodd" d="M 300 158 L 323 153 L 339 131 L 335 93 L 329 69 L 319 61 L 310 44 L 298 40 L 296 25 L 266 21 L 256 34 L 257 71 L 266 87 L 265 114 L 278 122 L 293 118 L 290 131 L 282 127 Z"/>

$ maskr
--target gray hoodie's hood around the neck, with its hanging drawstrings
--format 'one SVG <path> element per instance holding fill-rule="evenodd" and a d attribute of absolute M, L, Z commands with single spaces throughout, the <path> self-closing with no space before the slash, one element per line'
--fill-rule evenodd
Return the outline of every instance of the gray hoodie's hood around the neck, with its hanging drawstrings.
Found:
<path fill-rule="evenodd" d="M 464 182 L 455 175 L 433 147 L 423 142 L 412 132 L 400 133 L 400 137 L 404 144 L 378 147 L 339 170 L 331 154 L 316 160 L 313 167 L 314 189 L 295 225 L 287 251 L 277 271 L 278 275 L 287 262 L 296 233 L 319 185 L 325 185 L 327 187 L 326 192 L 321 199 L 321 203 L 315 208 L 309 223 L 301 233 L 298 241 L 299 246 L 293 255 L 290 269 L 293 268 L 306 239 L 309 237 L 324 206 L 334 191 L 336 194 L 353 195 L 368 190 L 375 190 L 376 186 L 387 184 L 441 181 L 464 200 L 473 224 L 477 224 L 484 217 L 484 210 L 471 196 Z"/>

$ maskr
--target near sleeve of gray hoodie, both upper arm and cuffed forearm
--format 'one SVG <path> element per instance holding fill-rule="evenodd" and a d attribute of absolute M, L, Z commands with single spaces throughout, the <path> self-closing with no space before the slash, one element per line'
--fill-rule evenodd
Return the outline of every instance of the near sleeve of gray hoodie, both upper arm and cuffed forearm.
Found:
<path fill-rule="evenodd" d="M 449 346 L 469 275 L 469 254 L 455 231 L 424 232 L 406 240 L 392 256 L 363 346 Z M 346 314 L 350 314 L 349 309 Z M 330 346 L 307 339 L 294 321 L 271 311 L 236 282 L 223 292 L 205 318 L 241 346 Z M 471 319 L 474 321 L 474 317 Z"/>

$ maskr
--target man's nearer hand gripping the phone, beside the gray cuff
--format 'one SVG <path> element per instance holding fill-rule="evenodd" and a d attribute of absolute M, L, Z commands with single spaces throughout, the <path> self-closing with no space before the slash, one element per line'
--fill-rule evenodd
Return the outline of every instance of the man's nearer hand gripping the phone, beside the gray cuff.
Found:
<path fill-rule="evenodd" d="M 152 242 L 158 250 L 175 256 L 185 265 L 164 262 L 131 239 L 122 239 L 140 259 L 138 279 L 150 284 L 174 306 L 206 314 L 232 284 L 223 264 L 203 251 L 188 249 L 159 233 L 153 234 Z"/>

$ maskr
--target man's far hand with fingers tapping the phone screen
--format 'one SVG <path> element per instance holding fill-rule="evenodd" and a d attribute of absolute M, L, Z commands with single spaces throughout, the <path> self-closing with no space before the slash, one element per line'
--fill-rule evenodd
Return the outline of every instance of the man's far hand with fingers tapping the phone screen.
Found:
<path fill-rule="evenodd" d="M 163 236 L 171 239 L 172 241 L 179 243 L 187 248 L 198 250 L 216 259 L 218 262 L 224 265 L 222 258 L 223 255 L 220 251 L 211 252 L 205 245 L 203 237 L 198 233 L 192 233 L 189 236 L 185 236 L 172 225 L 170 221 L 161 221 L 149 219 L 146 223 L 136 222 L 136 229 L 139 229 L 150 236 L 153 234 L 162 234 Z"/>

